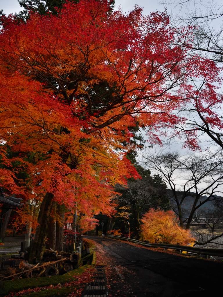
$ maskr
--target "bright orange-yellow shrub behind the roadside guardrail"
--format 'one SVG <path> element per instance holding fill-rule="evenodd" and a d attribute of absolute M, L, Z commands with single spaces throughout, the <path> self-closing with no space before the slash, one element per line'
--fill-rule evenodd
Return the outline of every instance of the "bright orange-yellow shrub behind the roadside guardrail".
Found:
<path fill-rule="evenodd" d="M 150 243 L 188 244 L 195 241 L 189 230 L 180 228 L 172 210 L 150 209 L 142 221 L 142 238 Z"/>

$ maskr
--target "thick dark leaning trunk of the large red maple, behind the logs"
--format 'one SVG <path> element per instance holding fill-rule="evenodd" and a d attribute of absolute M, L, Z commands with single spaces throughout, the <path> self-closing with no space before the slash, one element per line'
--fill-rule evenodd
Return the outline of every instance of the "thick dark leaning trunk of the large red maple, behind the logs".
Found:
<path fill-rule="evenodd" d="M 36 228 L 36 234 L 32 244 L 31 252 L 29 255 L 29 262 L 35 262 L 33 259 L 36 258 L 40 261 L 43 257 L 45 248 L 45 240 L 47 237 L 47 227 L 50 219 L 50 214 L 53 206 L 54 195 L 52 193 L 46 193 L 43 198 L 43 202 L 40 206 L 40 212 L 38 216 L 38 226 Z"/>

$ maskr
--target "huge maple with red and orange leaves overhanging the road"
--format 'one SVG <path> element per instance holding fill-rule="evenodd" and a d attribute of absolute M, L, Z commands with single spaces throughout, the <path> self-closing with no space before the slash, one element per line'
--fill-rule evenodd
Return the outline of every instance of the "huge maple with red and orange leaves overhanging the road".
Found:
<path fill-rule="evenodd" d="M 106 0 L 67 2 L 26 23 L 9 16 L 0 52 L 1 184 L 42 197 L 30 254 L 41 258 L 53 201 L 109 214 L 112 186 L 139 177 L 125 157 L 137 146 L 128 127 L 148 127 L 158 141 L 152 129 L 178 121 L 172 111 L 184 96 L 171 90 L 186 85 L 194 60 L 167 14 L 124 15 Z M 18 155 L 8 158 L 7 147 Z"/>

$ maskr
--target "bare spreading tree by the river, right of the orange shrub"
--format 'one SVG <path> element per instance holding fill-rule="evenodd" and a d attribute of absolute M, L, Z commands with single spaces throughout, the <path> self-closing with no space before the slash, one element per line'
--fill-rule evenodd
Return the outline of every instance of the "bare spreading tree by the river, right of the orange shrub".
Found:
<path fill-rule="evenodd" d="M 216 202 L 214 195 L 223 192 L 222 151 L 185 156 L 178 152 L 161 152 L 145 159 L 146 165 L 157 170 L 169 186 L 169 198 L 173 201 L 170 206 L 178 215 L 182 228 L 189 229 L 195 212 L 210 201 Z M 187 205 L 185 211 L 183 206 L 189 200 L 191 205 Z"/>

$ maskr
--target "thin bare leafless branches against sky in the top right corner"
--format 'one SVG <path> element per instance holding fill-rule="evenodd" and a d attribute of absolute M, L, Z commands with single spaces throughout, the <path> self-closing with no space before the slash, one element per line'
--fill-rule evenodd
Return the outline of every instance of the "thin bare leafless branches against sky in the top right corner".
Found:
<path fill-rule="evenodd" d="M 205 0 L 164 0 L 161 3 L 178 12 L 175 17 L 173 15 L 175 23 L 191 26 L 194 33 L 190 40 L 191 50 L 200 52 L 213 61 L 223 61 L 222 3 Z M 218 24 L 218 28 L 214 23 Z M 184 45 L 187 41 L 184 40 Z"/>

